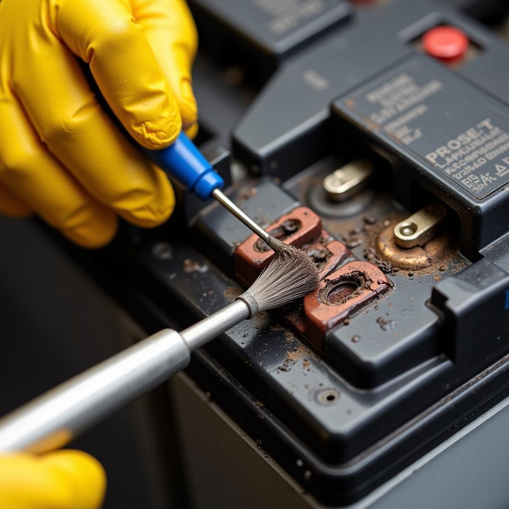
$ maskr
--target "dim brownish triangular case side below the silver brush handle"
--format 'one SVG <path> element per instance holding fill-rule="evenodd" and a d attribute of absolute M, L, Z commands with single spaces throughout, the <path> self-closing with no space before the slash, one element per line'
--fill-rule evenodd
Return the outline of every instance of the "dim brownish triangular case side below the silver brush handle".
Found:
<path fill-rule="evenodd" d="M 309 507 L 301 490 L 189 377 L 179 374 L 171 389 L 193 509 Z"/>

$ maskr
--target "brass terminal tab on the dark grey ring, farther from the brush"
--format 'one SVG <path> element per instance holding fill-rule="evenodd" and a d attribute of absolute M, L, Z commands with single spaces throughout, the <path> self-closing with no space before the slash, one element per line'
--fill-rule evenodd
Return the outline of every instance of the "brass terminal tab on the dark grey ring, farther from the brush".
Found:
<path fill-rule="evenodd" d="M 343 202 L 357 194 L 373 175 L 374 164 L 369 159 L 355 159 L 336 169 L 323 180 L 330 200 Z"/>

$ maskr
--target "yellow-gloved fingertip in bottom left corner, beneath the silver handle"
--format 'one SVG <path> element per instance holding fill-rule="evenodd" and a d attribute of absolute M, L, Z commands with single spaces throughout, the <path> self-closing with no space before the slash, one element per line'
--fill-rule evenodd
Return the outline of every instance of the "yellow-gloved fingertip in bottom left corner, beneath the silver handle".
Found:
<path fill-rule="evenodd" d="M 0 456 L 2 509 L 97 509 L 105 488 L 101 465 L 78 450 Z"/>

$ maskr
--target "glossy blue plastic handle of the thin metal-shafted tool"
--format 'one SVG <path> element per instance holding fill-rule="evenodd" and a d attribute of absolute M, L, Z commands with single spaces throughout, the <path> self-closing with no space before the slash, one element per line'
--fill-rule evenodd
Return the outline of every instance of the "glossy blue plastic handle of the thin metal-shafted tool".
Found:
<path fill-rule="evenodd" d="M 145 150 L 145 153 L 167 175 L 202 200 L 210 198 L 214 189 L 224 186 L 221 176 L 183 132 L 167 149 Z"/>

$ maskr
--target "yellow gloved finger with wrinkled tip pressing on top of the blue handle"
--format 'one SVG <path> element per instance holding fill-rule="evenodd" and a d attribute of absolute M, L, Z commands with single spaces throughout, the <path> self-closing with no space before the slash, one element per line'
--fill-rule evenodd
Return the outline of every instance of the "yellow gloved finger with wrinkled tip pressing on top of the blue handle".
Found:
<path fill-rule="evenodd" d="M 61 0 L 52 15 L 53 29 L 90 64 L 101 93 L 131 136 L 149 149 L 170 145 L 182 128 L 179 107 L 131 2 Z"/>

